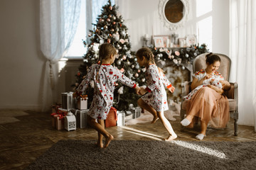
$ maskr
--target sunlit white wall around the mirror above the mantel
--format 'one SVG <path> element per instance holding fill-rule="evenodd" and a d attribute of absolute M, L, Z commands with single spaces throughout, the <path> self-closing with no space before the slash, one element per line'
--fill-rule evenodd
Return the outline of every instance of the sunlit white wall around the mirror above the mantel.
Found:
<path fill-rule="evenodd" d="M 198 35 L 196 29 L 196 0 L 188 0 L 188 19 L 183 28 L 171 31 L 159 19 L 160 0 L 119 0 L 119 11 L 124 18 L 124 24 L 129 29 L 132 50 L 138 50 L 143 45 L 142 36 L 171 35 L 178 33 L 180 38 L 186 35 Z M 213 48 L 216 53 L 229 55 L 229 0 L 213 0 L 213 10 L 207 16 L 213 17 Z M 200 34 L 200 33 L 199 33 Z M 202 44 L 203 42 L 200 42 Z"/>

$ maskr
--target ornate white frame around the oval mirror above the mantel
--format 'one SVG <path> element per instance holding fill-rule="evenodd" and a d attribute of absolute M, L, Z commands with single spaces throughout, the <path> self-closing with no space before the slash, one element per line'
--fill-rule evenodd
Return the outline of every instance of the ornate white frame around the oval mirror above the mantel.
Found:
<path fill-rule="evenodd" d="M 188 12 L 189 12 L 188 0 L 180 0 L 183 3 L 183 6 L 184 6 L 183 11 L 185 11 L 185 12 L 183 13 L 183 18 L 181 19 L 181 21 L 178 21 L 177 23 L 171 23 L 165 16 L 164 11 L 165 11 L 165 6 L 168 1 L 169 0 L 160 0 L 160 2 L 159 2 L 160 20 L 163 21 L 164 26 L 166 26 L 170 30 L 177 30 L 178 28 L 182 28 L 184 21 L 186 21 L 188 18 Z"/>

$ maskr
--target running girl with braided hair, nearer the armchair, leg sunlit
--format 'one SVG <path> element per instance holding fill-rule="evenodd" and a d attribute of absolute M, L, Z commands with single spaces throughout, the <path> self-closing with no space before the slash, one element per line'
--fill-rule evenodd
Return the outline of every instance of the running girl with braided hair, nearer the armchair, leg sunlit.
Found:
<path fill-rule="evenodd" d="M 175 88 L 170 81 L 165 77 L 164 72 L 159 69 L 154 62 L 154 55 L 147 47 L 143 47 L 136 53 L 137 62 L 140 66 L 146 67 L 146 89 L 141 89 L 140 94 L 144 95 L 139 98 L 138 105 L 149 111 L 154 118 L 151 123 L 155 123 L 159 118 L 166 130 L 169 132 L 169 137 L 166 140 L 174 140 L 177 135 L 171 127 L 171 123 L 164 117 L 164 111 L 168 110 L 168 103 L 164 85 L 171 93 Z M 147 94 L 146 94 L 147 92 Z"/>

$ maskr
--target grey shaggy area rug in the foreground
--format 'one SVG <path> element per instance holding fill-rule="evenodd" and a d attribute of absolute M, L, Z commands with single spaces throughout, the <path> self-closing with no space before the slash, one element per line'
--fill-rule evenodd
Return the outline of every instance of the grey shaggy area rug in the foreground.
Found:
<path fill-rule="evenodd" d="M 255 169 L 256 142 L 60 140 L 27 169 Z"/>

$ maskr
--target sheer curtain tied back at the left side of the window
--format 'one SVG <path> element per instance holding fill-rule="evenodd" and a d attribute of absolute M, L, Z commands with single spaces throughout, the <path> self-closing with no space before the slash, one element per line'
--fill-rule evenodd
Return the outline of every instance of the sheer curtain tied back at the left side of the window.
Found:
<path fill-rule="evenodd" d="M 43 72 L 42 111 L 56 100 L 58 60 L 65 55 L 75 35 L 80 16 L 80 0 L 41 0 L 41 51 L 46 57 Z"/>

